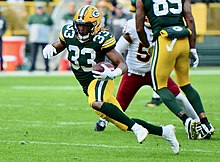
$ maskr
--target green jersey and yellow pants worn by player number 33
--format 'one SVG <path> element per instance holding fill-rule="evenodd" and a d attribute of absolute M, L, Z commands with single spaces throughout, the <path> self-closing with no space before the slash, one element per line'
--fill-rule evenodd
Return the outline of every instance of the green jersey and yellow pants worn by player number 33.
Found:
<path fill-rule="evenodd" d="M 68 60 L 71 69 L 88 96 L 89 105 L 95 101 L 112 103 L 121 109 L 113 96 L 114 80 L 98 80 L 93 77 L 92 69 L 95 64 L 105 60 L 105 54 L 115 47 L 115 37 L 108 31 L 99 31 L 87 41 L 80 41 L 72 25 L 65 25 L 60 32 L 60 40 L 68 50 Z M 127 126 L 108 118 L 105 114 L 96 111 L 102 118 L 106 118 L 120 129 L 127 130 Z"/>

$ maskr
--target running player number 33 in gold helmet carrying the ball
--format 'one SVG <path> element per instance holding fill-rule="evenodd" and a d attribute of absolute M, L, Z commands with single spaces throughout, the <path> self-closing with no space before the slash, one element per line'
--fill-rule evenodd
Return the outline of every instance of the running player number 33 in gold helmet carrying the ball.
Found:
<path fill-rule="evenodd" d="M 59 40 L 43 49 L 43 56 L 50 59 L 65 48 L 71 69 L 86 96 L 89 105 L 102 117 L 122 130 L 133 131 L 139 143 L 147 135 L 155 134 L 167 140 L 172 151 L 179 152 L 179 142 L 173 125 L 155 126 L 140 119 L 129 118 L 113 96 L 114 78 L 127 70 L 123 57 L 114 49 L 115 37 L 100 28 L 101 15 L 92 5 L 82 6 L 75 14 L 73 24 L 63 26 Z M 104 64 L 104 72 L 93 71 L 93 66 L 108 57 L 117 67 L 111 71 Z M 98 79 L 97 79 L 98 78 Z"/>

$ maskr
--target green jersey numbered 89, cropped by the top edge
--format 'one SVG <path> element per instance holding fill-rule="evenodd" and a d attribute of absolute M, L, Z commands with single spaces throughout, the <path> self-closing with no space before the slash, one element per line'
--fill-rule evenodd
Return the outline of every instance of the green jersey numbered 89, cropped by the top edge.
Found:
<path fill-rule="evenodd" d="M 142 0 L 142 2 L 154 33 L 154 40 L 165 27 L 184 26 L 181 0 Z"/>

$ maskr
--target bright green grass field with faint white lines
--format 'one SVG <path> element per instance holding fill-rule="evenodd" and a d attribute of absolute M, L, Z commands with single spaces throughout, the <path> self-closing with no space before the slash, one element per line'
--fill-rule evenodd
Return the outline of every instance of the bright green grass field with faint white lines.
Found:
<path fill-rule="evenodd" d="M 182 122 L 164 105 L 144 107 L 151 99 L 149 87 L 137 93 L 126 112 L 156 125 L 174 124 L 181 145 L 179 155 L 174 155 L 169 143 L 158 136 L 149 135 L 141 145 L 133 133 L 120 131 L 112 124 L 104 132 L 94 132 L 98 116 L 71 73 L 0 73 L 0 161 L 220 161 L 220 68 L 199 68 L 192 72 L 191 81 L 216 130 L 210 140 L 188 140 Z M 119 78 L 115 91 L 118 82 Z"/>

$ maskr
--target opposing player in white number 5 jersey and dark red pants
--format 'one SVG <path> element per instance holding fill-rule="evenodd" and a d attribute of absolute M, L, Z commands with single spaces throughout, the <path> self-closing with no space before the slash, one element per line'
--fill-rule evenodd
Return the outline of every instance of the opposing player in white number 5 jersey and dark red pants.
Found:
<path fill-rule="evenodd" d="M 145 30 L 148 40 L 152 41 L 152 30 L 147 22 Z M 135 19 L 130 19 L 126 22 L 123 33 L 124 34 L 118 40 L 115 49 L 121 54 L 124 53 L 126 49 L 128 50 L 126 56 L 128 71 L 122 76 L 116 98 L 123 111 L 126 111 L 136 92 L 142 86 L 149 85 L 152 87 L 149 54 L 151 53 L 151 48 L 144 47 L 140 42 L 135 28 Z M 183 108 L 186 114 L 182 111 L 181 115 L 185 114 L 186 116 L 192 117 L 196 122 L 199 122 L 199 117 L 193 107 L 186 97 L 180 92 L 178 86 L 171 78 L 168 80 L 168 89 L 174 94 L 176 99 L 184 105 Z M 176 114 L 175 112 L 173 113 Z M 180 116 L 178 117 L 183 120 Z M 96 123 L 95 130 L 104 130 L 106 123 L 106 121 L 100 119 Z"/>

